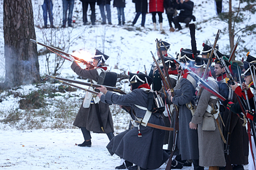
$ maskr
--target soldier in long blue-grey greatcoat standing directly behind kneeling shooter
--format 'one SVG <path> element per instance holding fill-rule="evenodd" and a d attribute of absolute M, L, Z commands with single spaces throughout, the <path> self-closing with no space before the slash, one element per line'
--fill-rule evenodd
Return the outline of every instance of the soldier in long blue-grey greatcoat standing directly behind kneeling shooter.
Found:
<path fill-rule="evenodd" d="M 188 53 L 186 56 L 189 56 Z M 180 89 L 175 89 L 175 96 L 172 97 L 170 90 L 168 90 L 170 102 L 179 106 L 179 131 L 176 141 L 178 151 L 176 155 L 181 155 L 181 160 L 192 160 L 194 169 L 203 169 L 199 166 L 199 150 L 198 150 L 198 135 L 197 130 L 192 130 L 189 127 L 193 110 L 190 108 L 193 104 L 193 97 L 195 96 L 197 87 L 197 78 L 189 72 L 185 73 L 180 80 Z M 170 146 L 172 147 L 172 146 Z M 169 148 L 170 149 L 170 148 Z M 176 165 L 178 165 L 176 162 Z M 173 168 L 182 168 L 172 163 Z"/>

